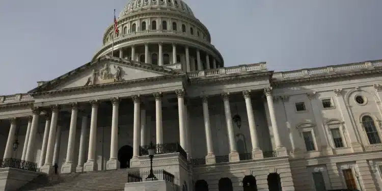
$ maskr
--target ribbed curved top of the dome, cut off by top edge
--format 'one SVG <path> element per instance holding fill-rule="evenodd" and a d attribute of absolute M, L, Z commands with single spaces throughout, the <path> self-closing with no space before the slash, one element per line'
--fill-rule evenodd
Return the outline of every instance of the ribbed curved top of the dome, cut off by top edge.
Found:
<path fill-rule="evenodd" d="M 178 11 L 194 16 L 193 11 L 182 0 L 130 0 L 119 14 L 119 17 L 138 10 L 158 8 Z"/>

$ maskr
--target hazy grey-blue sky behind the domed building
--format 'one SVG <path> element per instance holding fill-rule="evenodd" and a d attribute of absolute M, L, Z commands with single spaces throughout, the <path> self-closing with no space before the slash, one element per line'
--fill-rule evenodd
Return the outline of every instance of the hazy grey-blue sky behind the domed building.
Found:
<path fill-rule="evenodd" d="M 225 66 L 288 71 L 382 59 L 380 0 L 184 0 Z M 128 0 L 0 1 L 0 95 L 89 62 Z"/>

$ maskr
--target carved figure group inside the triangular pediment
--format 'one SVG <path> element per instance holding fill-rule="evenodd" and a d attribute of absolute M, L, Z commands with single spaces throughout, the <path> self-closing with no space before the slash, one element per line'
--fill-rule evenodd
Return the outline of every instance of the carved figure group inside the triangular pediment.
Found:
<path fill-rule="evenodd" d="M 122 68 L 116 65 L 113 65 L 113 67 L 115 70 L 114 73 L 112 73 L 111 68 L 108 64 L 104 64 L 100 70 L 93 69 L 92 74 L 88 78 L 88 81 L 86 82 L 85 86 L 122 81 Z"/>

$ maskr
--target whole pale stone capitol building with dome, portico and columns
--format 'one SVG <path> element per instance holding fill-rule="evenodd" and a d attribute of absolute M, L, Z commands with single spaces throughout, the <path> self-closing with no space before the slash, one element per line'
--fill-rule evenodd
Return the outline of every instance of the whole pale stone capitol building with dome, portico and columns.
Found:
<path fill-rule="evenodd" d="M 0 190 L 382 190 L 382 61 L 225 67 L 182 0 L 116 20 L 89 63 L 0 96 Z"/>

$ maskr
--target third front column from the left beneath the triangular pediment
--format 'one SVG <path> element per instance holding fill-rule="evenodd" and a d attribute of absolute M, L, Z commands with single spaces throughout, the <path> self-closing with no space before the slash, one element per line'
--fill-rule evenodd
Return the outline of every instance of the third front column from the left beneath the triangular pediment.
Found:
<path fill-rule="evenodd" d="M 72 173 L 75 172 L 75 166 L 73 163 L 73 151 L 75 144 L 75 131 L 77 127 L 77 114 L 78 114 L 78 104 L 76 102 L 71 103 L 72 114 L 70 117 L 70 127 L 69 127 L 69 138 L 68 138 L 68 148 L 66 150 L 66 160 L 65 164 L 62 166 L 61 173 Z"/>

